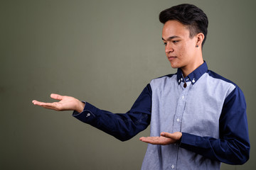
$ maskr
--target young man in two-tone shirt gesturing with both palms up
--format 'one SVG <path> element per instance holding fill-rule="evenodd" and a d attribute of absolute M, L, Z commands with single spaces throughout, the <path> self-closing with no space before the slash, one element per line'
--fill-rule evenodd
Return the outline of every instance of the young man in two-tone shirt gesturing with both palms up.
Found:
<path fill-rule="evenodd" d="M 191 4 L 162 11 L 162 40 L 176 74 L 153 79 L 125 114 L 102 111 L 70 96 L 51 94 L 55 103 L 33 101 L 57 111 L 71 110 L 84 123 L 119 140 L 151 125 L 142 169 L 220 169 L 220 162 L 249 159 L 245 98 L 233 82 L 208 70 L 202 47 L 208 18 Z M 159 136 L 160 135 L 160 136 Z"/>

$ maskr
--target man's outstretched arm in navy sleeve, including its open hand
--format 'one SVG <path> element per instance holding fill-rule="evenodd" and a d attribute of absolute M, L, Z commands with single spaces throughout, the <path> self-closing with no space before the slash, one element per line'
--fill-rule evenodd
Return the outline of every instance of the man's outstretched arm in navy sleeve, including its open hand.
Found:
<path fill-rule="evenodd" d="M 51 94 L 59 102 L 44 103 L 32 101 L 34 105 L 55 111 L 74 111 L 73 116 L 84 123 L 103 130 L 119 140 L 129 140 L 146 129 L 151 119 L 151 87 L 148 84 L 135 101 L 131 110 L 125 114 L 103 111 L 90 103 L 84 103 L 70 96 Z"/>

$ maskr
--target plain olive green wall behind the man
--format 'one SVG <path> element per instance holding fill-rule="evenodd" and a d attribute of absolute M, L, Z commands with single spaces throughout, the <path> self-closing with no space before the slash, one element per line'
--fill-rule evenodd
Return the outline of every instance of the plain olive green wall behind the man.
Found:
<path fill-rule="evenodd" d="M 0 1 L 0 169 L 140 169 L 146 144 L 127 142 L 31 101 L 74 96 L 125 113 L 151 79 L 171 69 L 159 12 L 191 3 L 209 19 L 209 69 L 234 81 L 247 100 L 250 160 L 256 169 L 255 1 Z"/>

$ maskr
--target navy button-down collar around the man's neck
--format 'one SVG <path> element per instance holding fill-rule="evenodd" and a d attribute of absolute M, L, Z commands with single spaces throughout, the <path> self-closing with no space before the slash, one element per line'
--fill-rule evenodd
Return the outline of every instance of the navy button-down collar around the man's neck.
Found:
<path fill-rule="evenodd" d="M 197 69 L 191 72 L 191 74 L 188 74 L 188 76 L 185 77 L 185 79 L 186 81 L 191 81 L 191 84 L 195 84 L 196 81 L 198 81 L 198 79 L 200 79 L 200 77 L 207 72 L 207 70 L 208 70 L 208 66 L 204 61 L 203 64 L 201 64 L 201 66 L 199 66 Z M 178 68 L 178 71 L 177 71 L 177 81 L 178 81 L 178 84 L 181 84 L 181 81 L 184 81 L 184 77 L 182 75 L 182 71 L 180 68 Z"/>

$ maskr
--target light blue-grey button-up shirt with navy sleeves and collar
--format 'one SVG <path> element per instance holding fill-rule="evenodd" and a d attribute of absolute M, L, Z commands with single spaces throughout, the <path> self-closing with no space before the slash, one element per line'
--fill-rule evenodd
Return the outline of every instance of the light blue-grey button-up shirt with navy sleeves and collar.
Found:
<path fill-rule="evenodd" d="M 179 145 L 149 144 L 142 169 L 220 169 L 220 162 L 249 159 L 245 97 L 232 81 L 208 70 L 206 62 L 185 78 L 178 69 L 151 80 L 127 113 L 86 103 L 73 116 L 122 141 L 149 124 L 151 136 L 182 132 Z"/>

